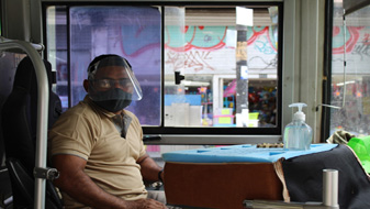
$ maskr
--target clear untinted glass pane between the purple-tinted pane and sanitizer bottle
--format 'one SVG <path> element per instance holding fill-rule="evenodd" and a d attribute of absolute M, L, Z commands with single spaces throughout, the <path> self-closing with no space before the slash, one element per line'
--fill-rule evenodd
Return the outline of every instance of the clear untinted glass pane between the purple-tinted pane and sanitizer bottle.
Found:
<path fill-rule="evenodd" d="M 165 127 L 276 127 L 277 24 L 277 7 L 165 7 Z"/>

